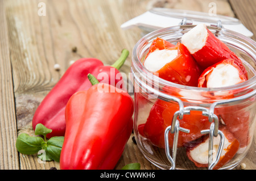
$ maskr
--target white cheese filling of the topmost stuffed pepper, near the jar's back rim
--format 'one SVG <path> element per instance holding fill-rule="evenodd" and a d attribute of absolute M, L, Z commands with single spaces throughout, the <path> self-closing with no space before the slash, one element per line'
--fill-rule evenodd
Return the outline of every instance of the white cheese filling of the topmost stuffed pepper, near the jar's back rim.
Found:
<path fill-rule="evenodd" d="M 205 24 L 198 24 L 181 37 L 181 43 L 193 54 L 204 47 L 207 36 Z"/>

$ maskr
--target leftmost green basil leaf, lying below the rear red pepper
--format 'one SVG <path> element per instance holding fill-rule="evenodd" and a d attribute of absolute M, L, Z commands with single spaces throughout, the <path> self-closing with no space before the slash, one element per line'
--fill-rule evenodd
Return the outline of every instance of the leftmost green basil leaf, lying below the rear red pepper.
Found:
<path fill-rule="evenodd" d="M 35 154 L 42 149 L 41 137 L 29 136 L 27 133 L 22 133 L 16 140 L 16 149 L 22 154 Z"/>

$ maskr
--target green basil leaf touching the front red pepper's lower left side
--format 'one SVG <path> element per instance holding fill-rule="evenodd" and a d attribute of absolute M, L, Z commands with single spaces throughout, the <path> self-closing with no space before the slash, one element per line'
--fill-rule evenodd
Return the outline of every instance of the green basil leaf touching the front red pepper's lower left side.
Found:
<path fill-rule="evenodd" d="M 64 136 L 55 136 L 47 141 L 46 153 L 56 162 L 60 162 L 60 152 L 63 146 Z"/>

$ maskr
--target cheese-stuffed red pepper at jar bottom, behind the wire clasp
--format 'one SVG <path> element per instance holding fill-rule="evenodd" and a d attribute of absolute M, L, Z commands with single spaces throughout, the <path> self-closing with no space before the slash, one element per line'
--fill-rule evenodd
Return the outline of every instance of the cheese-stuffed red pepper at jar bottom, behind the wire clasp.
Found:
<path fill-rule="evenodd" d="M 220 169 L 226 163 L 230 161 L 237 153 L 239 148 L 239 142 L 234 138 L 233 134 L 228 131 L 225 127 L 220 127 L 220 131 L 224 134 L 224 148 L 221 153 L 221 157 L 214 170 Z M 213 159 L 216 158 L 217 148 L 220 144 L 220 136 L 213 138 Z M 187 147 L 188 158 L 195 163 L 197 167 L 208 167 L 208 152 L 209 152 L 209 134 L 195 141 L 193 145 Z"/>

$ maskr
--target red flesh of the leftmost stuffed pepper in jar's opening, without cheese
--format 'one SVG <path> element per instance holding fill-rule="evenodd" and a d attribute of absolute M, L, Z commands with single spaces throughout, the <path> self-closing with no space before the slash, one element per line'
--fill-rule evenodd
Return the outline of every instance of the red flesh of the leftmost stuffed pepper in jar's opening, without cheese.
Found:
<path fill-rule="evenodd" d="M 155 74 L 170 82 L 187 86 L 197 86 L 201 70 L 194 58 L 188 52 L 188 49 L 179 42 L 176 45 L 172 45 L 166 40 L 157 38 L 152 42 L 146 57 L 155 50 L 162 49 L 177 50 L 177 56 L 174 59 L 170 59 L 167 64 L 155 71 Z M 145 59 L 144 64 L 146 61 L 147 58 Z M 158 60 L 155 60 L 155 64 L 158 64 Z"/>

